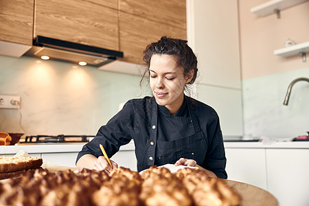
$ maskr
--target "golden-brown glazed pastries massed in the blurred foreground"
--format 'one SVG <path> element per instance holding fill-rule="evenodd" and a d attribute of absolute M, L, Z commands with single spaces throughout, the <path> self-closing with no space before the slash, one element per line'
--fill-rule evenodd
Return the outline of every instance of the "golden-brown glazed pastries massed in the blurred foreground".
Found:
<path fill-rule="evenodd" d="M 240 196 L 202 170 L 171 173 L 150 167 L 142 174 L 117 168 L 110 174 L 84 169 L 27 171 L 0 181 L 0 205 L 239 205 Z"/>

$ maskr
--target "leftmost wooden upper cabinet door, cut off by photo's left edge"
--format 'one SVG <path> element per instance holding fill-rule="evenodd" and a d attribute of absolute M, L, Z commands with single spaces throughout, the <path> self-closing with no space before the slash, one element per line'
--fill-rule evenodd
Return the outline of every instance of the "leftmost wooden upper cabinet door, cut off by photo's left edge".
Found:
<path fill-rule="evenodd" d="M 34 0 L 0 1 L 0 41 L 32 45 Z"/>

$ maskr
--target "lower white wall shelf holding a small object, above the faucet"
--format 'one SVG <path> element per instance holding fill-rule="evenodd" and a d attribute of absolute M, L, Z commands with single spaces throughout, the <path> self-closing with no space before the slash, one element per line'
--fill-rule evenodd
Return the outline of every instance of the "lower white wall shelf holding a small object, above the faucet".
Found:
<path fill-rule="evenodd" d="M 303 56 L 303 61 L 306 62 L 306 53 L 309 52 L 309 41 L 305 43 L 300 43 L 290 47 L 284 47 L 282 49 L 276 49 L 273 54 L 288 57 L 301 54 Z"/>

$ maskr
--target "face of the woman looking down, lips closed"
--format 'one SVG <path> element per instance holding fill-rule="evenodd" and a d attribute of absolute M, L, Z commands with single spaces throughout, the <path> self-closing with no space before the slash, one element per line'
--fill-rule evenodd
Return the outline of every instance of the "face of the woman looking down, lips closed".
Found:
<path fill-rule="evenodd" d="M 152 55 L 149 71 L 150 87 L 157 104 L 165 106 L 174 115 L 183 104 L 185 83 L 192 78 L 185 78 L 183 67 L 177 66 L 176 60 L 166 54 Z"/>

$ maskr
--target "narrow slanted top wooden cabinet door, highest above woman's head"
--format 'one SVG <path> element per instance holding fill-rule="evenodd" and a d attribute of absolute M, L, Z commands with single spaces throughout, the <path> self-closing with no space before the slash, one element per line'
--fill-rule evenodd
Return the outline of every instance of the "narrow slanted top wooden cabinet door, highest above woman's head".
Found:
<path fill-rule="evenodd" d="M 119 10 L 186 30 L 185 0 L 119 0 Z"/>

